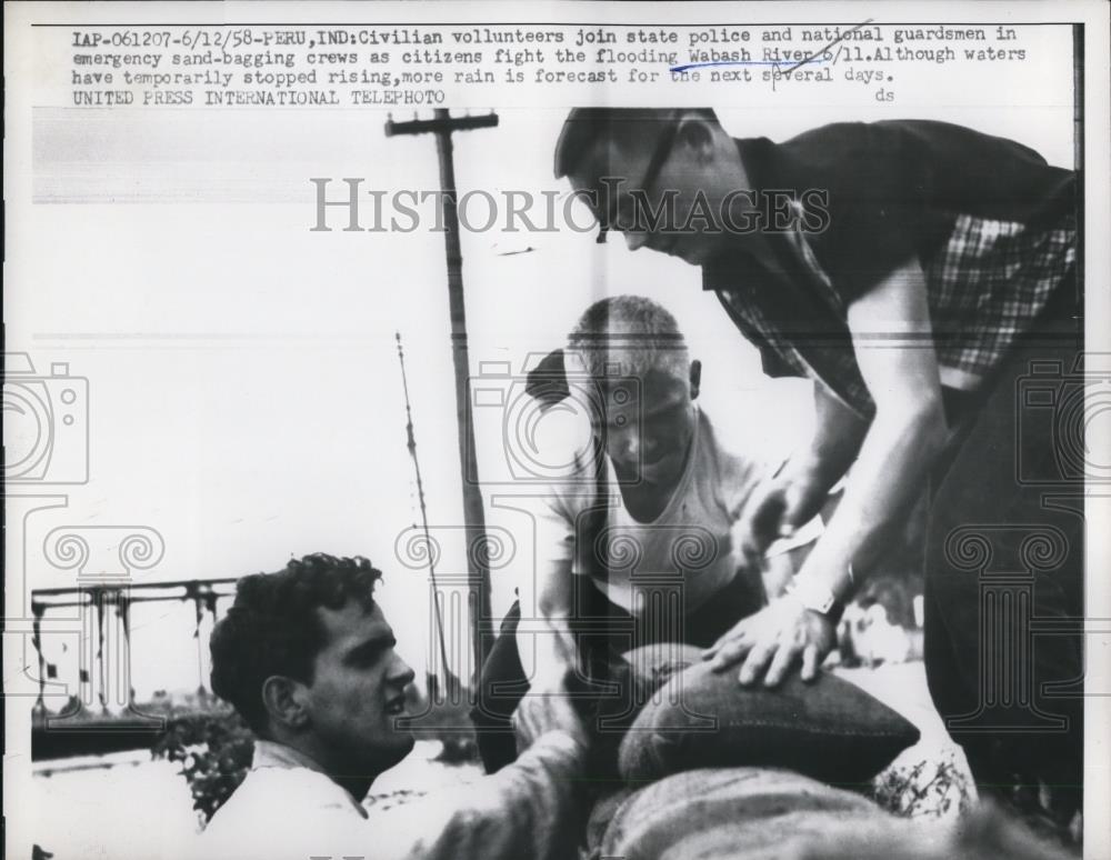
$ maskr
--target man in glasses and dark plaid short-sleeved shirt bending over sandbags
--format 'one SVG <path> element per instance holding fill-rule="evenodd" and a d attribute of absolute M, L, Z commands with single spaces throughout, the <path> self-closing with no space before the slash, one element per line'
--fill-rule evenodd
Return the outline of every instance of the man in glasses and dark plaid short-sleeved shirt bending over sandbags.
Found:
<path fill-rule="evenodd" d="M 802 653 L 824 654 L 831 616 L 929 487 L 934 703 L 984 792 L 1028 808 L 1052 794 L 1053 823 L 1075 829 L 1083 520 L 1062 499 L 1082 496 L 1083 469 L 1061 466 L 1052 422 L 1029 420 L 1031 404 L 1065 399 L 1083 346 L 1075 174 L 942 122 L 835 123 L 773 143 L 732 139 L 710 110 L 610 108 L 571 112 L 556 174 L 603 236 L 700 266 L 765 372 L 814 380 L 812 442 L 747 508 L 753 559 L 851 467 L 790 593 L 709 659 L 774 684 Z M 1057 401 L 1017 400 L 1031 368 L 1054 371 L 1039 384 Z M 991 592 L 1002 572 L 1009 596 Z M 1067 634 L 1031 639 L 1031 618 Z"/>

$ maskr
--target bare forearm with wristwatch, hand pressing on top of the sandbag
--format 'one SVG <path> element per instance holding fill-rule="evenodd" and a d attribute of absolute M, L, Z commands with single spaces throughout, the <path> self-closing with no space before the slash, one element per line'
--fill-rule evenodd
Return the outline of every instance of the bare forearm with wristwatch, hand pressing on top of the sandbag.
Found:
<path fill-rule="evenodd" d="M 840 598 L 852 586 L 850 566 L 865 569 L 874 559 L 889 527 L 921 492 L 948 436 L 921 266 L 902 267 L 853 302 L 849 329 L 875 418 L 844 498 L 797 577 Z M 880 332 L 888 337 L 875 339 Z M 803 679 L 814 678 L 832 644 L 829 617 L 788 594 L 735 624 L 704 657 L 718 671 L 743 660 L 741 683 L 763 678 L 772 686 L 800 656 Z"/>

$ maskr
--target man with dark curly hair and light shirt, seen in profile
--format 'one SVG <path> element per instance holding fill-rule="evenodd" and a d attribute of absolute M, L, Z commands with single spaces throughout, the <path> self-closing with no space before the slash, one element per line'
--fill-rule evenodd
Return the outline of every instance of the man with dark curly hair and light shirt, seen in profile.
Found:
<path fill-rule="evenodd" d="M 252 767 L 198 841 L 217 858 L 561 857 L 584 754 L 562 697 L 530 699 L 513 768 L 388 812 L 361 801 L 413 747 L 413 670 L 374 601 L 381 571 L 322 553 L 238 583 L 212 632 L 212 689 L 257 737 Z"/>

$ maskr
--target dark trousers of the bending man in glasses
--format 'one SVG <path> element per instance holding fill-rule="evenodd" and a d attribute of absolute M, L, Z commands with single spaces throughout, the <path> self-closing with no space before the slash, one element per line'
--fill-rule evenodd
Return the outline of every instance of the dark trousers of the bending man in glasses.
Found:
<path fill-rule="evenodd" d="M 925 576 L 930 693 L 982 793 L 1053 788 L 1083 763 L 1082 336 L 1071 279 L 1037 336 L 970 404 L 933 477 Z"/>

